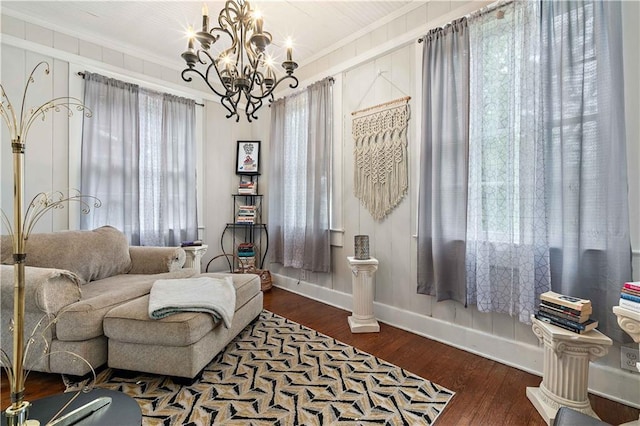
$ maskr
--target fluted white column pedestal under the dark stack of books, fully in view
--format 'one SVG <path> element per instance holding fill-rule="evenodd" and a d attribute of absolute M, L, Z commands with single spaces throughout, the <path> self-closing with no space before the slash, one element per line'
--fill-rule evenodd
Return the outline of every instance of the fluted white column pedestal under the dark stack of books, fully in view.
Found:
<path fill-rule="evenodd" d="M 544 344 L 540 387 L 528 387 L 527 397 L 551 425 L 562 406 L 599 419 L 588 398 L 589 362 L 605 356 L 612 345 L 598 330 L 577 334 L 533 318 L 533 333 Z"/>

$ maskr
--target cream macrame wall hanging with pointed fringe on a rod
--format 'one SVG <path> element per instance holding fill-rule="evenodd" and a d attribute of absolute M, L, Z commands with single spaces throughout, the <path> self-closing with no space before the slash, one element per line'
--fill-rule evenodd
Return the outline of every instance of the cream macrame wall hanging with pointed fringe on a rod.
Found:
<path fill-rule="evenodd" d="M 376 220 L 384 219 L 407 194 L 410 99 L 407 96 L 351 113 L 353 192 Z"/>

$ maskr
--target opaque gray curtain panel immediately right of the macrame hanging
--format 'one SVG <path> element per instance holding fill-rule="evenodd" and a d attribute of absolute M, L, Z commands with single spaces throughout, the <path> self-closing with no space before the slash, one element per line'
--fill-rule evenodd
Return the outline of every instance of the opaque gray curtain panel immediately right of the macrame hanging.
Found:
<path fill-rule="evenodd" d="M 466 305 L 469 158 L 467 19 L 425 36 L 418 196 L 418 293 Z"/>

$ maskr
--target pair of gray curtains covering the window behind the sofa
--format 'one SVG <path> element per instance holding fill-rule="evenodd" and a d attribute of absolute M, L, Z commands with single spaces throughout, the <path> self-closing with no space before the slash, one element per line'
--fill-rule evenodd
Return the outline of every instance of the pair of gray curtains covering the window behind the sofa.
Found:
<path fill-rule="evenodd" d="M 132 245 L 197 238 L 195 102 L 85 73 L 82 190 L 103 207 L 81 226 L 112 225 Z"/>

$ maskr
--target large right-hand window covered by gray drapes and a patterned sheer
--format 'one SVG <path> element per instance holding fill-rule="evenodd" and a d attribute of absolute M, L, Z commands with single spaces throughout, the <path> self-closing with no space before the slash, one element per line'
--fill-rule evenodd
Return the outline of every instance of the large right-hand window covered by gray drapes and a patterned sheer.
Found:
<path fill-rule="evenodd" d="M 526 323 L 552 289 L 597 300 L 600 330 L 621 335 L 611 306 L 631 279 L 631 246 L 620 18 L 615 1 L 512 2 L 475 13 L 452 92 L 468 103 L 455 108 L 446 108 L 451 96 L 434 107 L 428 89 L 443 64 L 466 60 L 464 40 L 429 56 L 439 39 L 426 38 L 426 123 L 458 123 L 469 111 L 468 194 L 456 198 L 466 204 L 463 242 L 462 221 L 443 215 L 437 198 L 451 191 L 428 184 L 446 182 L 444 171 L 459 169 L 466 152 L 422 162 L 419 292 L 460 300 L 466 278 L 464 300 Z M 449 135 L 425 127 L 425 147 L 442 149 Z"/>

